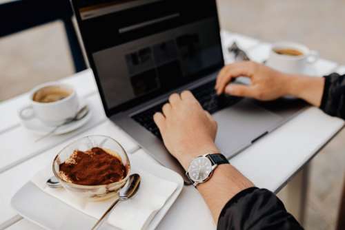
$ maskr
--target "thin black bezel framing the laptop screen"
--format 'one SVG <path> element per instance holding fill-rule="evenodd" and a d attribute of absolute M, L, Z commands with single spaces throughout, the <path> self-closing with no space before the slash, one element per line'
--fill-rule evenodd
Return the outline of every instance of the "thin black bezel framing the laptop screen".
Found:
<path fill-rule="evenodd" d="M 95 65 L 95 61 L 92 57 L 92 53 L 90 52 L 90 50 L 86 47 L 85 45 L 85 42 L 84 42 L 84 38 L 83 38 L 83 27 L 80 26 L 80 24 L 83 22 L 81 20 L 81 15 L 79 14 L 79 8 L 82 6 L 81 5 L 81 1 L 83 0 L 70 0 L 71 1 L 71 4 L 72 4 L 72 8 L 75 12 L 75 17 L 77 19 L 77 24 L 78 24 L 78 28 L 79 28 L 79 32 L 80 32 L 80 35 L 81 35 L 81 39 L 83 41 L 83 47 L 86 51 L 86 55 L 87 55 L 87 58 L 88 58 L 88 62 L 90 64 L 90 67 L 93 71 L 93 74 L 95 76 L 95 81 L 97 83 L 97 87 L 98 87 L 98 90 L 99 90 L 99 95 L 101 96 L 101 101 L 103 103 L 103 107 L 104 107 L 104 111 L 106 112 L 106 116 L 107 117 L 110 117 L 110 116 L 114 116 L 115 114 L 118 114 L 119 112 L 122 112 L 122 111 L 126 111 L 128 109 L 131 109 L 132 107 L 135 107 L 137 105 L 140 105 L 144 102 L 147 102 L 147 101 L 150 101 L 154 98 L 157 98 L 158 96 L 161 96 L 163 95 L 164 93 L 162 92 L 158 92 L 155 93 L 153 92 L 152 94 L 147 94 L 145 96 L 141 96 L 139 98 L 133 98 L 131 99 L 130 101 L 127 101 L 126 103 L 122 103 L 121 105 L 117 105 L 115 107 L 112 107 L 112 108 L 109 108 L 108 105 L 107 105 L 107 102 L 106 102 L 106 96 L 104 95 L 104 92 L 103 92 L 103 88 L 102 88 L 102 85 L 101 85 L 101 80 L 99 79 L 99 74 L 97 72 L 97 67 Z M 221 67 L 224 66 L 224 54 L 223 54 L 223 49 L 221 47 L 221 36 L 220 36 L 220 24 L 219 24 L 219 17 L 218 17 L 218 11 L 217 11 L 217 2 L 214 0 L 214 4 L 215 4 L 215 8 L 216 8 L 216 11 L 215 11 L 215 17 L 216 17 L 216 23 L 217 23 L 217 39 L 219 41 L 219 49 L 220 49 L 220 52 L 221 52 L 221 62 L 217 65 L 214 65 L 212 67 L 209 67 L 201 72 L 199 72 L 198 74 L 196 74 L 195 76 L 195 81 L 199 81 L 200 79 L 204 79 L 206 76 L 208 76 L 209 74 L 213 74 L 214 72 L 217 72 Z M 189 83 L 193 83 L 195 81 L 190 81 Z M 179 86 L 181 87 L 181 85 Z M 172 89 L 174 90 L 174 89 Z"/>

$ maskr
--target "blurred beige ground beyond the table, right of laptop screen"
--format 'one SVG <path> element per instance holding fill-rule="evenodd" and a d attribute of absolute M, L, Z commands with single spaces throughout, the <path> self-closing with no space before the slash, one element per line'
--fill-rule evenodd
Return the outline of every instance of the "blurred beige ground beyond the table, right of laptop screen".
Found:
<path fill-rule="evenodd" d="M 344 0 L 218 0 L 221 26 L 264 41 L 296 41 L 345 63 Z"/>

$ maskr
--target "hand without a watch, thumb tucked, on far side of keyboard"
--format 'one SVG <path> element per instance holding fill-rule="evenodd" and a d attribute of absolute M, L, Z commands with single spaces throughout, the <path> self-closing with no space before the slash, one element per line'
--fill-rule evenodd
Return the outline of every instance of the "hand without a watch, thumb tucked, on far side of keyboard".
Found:
<path fill-rule="evenodd" d="M 250 85 L 230 84 L 231 80 L 247 76 Z M 246 96 L 262 101 L 275 100 L 288 94 L 288 76 L 282 72 L 259 63 L 246 61 L 226 65 L 217 77 L 215 89 L 217 94 L 226 92 L 233 96 Z"/>

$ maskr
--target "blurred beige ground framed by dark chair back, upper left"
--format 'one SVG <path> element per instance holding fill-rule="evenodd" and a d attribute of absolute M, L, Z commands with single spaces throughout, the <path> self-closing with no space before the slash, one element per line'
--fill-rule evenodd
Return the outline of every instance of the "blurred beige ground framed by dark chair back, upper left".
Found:
<path fill-rule="evenodd" d="M 60 22 L 0 39 L 0 50 L 0 101 L 73 73 Z"/>

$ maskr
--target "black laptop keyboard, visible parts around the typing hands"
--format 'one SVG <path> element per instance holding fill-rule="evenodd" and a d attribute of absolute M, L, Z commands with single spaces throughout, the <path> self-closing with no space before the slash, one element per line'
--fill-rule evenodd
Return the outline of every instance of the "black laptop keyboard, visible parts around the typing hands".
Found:
<path fill-rule="evenodd" d="M 237 102 L 241 100 L 241 98 L 236 96 L 226 96 L 224 94 L 218 96 L 215 92 L 215 81 L 210 81 L 204 85 L 200 85 L 199 87 L 191 90 L 197 101 L 201 104 L 201 106 L 208 111 L 210 114 L 214 114 L 225 107 L 229 107 L 231 105 L 235 105 Z M 148 131 L 152 134 L 161 138 L 161 134 L 155 122 L 153 121 L 153 115 L 156 112 L 161 112 L 161 107 L 167 103 L 159 103 L 150 109 L 145 110 L 139 114 L 135 114 L 132 118 L 137 121 L 140 125 L 144 126 Z"/>

